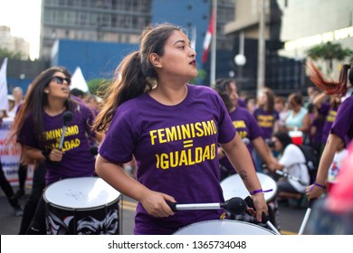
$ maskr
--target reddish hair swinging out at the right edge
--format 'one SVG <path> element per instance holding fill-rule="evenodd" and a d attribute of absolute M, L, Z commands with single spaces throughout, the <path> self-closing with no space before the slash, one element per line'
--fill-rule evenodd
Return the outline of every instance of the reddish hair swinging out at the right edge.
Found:
<path fill-rule="evenodd" d="M 344 64 L 339 72 L 339 80 L 325 80 L 320 70 L 310 61 L 310 80 L 326 94 L 344 96 L 347 93 L 347 80 L 353 85 L 353 64 Z M 350 70 L 349 70 L 350 69 Z M 349 76 L 348 76 L 349 70 Z"/>

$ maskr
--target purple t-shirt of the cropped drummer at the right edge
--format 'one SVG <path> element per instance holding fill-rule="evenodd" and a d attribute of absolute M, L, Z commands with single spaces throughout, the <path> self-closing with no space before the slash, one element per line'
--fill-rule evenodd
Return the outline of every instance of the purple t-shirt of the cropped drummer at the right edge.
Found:
<path fill-rule="evenodd" d="M 337 111 L 331 133 L 336 134 L 345 141 L 346 146 L 353 138 L 353 96 L 344 100 Z"/>

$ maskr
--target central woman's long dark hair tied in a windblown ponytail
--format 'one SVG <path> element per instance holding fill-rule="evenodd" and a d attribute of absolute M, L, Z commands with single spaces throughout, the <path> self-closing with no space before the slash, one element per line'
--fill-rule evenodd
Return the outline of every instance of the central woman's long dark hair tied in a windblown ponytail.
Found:
<path fill-rule="evenodd" d="M 157 84 L 157 72 L 149 61 L 151 53 L 164 55 L 167 39 L 181 28 L 170 23 L 148 25 L 140 35 L 140 48 L 120 62 L 114 79 L 104 98 L 104 107 L 96 117 L 93 128 L 105 131 L 110 126 L 116 109 L 125 101 L 136 98 L 153 89 Z"/>

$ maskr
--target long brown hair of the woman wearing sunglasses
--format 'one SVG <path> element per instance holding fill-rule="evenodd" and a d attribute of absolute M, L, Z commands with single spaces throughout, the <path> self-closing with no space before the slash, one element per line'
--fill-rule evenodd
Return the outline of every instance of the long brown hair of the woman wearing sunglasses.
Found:
<path fill-rule="evenodd" d="M 43 108 L 48 105 L 48 95 L 44 93 L 44 89 L 48 87 L 52 80 L 52 76 L 56 72 L 62 72 L 66 78 L 71 79 L 72 75 L 64 67 L 52 67 L 40 73 L 32 82 L 29 90 L 24 98 L 24 103 L 21 105 L 17 115 L 14 117 L 11 137 L 17 136 L 24 126 L 24 119 L 32 115 L 34 133 L 38 140 L 43 136 Z M 72 110 L 75 102 L 69 97 L 65 101 L 64 106 L 67 110 Z"/>

